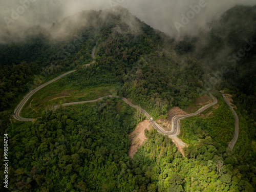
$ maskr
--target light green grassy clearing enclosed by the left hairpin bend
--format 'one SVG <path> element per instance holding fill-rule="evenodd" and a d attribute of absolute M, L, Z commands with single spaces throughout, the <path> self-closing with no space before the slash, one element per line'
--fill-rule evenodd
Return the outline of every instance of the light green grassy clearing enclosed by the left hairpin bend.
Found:
<path fill-rule="evenodd" d="M 110 84 L 81 88 L 63 77 L 36 92 L 25 104 L 21 115 L 25 118 L 36 118 L 40 116 L 42 111 L 54 109 L 54 106 L 60 103 L 93 100 L 111 95 L 114 88 L 115 85 Z"/>

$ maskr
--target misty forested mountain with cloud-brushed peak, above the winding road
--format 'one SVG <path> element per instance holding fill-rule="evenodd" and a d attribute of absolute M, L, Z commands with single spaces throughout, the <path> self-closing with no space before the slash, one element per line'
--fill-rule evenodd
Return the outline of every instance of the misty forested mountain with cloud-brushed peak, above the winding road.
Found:
<path fill-rule="evenodd" d="M 70 25 L 72 18 L 53 25 L 50 32 L 42 30 L 45 35 L 38 34 L 37 29 L 38 38 L 27 37 L 27 41 L 2 46 L 1 111 L 15 106 L 20 95 L 42 80 L 88 63 L 95 44 L 97 64 L 89 70 L 100 79 L 94 75 L 91 78 L 114 78 L 122 87 L 117 90 L 119 95 L 132 98 L 154 116 L 165 115 L 173 105 L 185 108 L 198 96 L 200 67 L 189 55 L 177 53 L 173 40 L 163 33 L 124 9 L 82 12 L 79 17 L 90 18 L 90 23 L 79 28 L 72 24 L 75 27 L 66 31 L 70 35 L 65 40 L 54 35 Z M 80 73 L 76 74 L 77 81 L 84 80 Z"/>

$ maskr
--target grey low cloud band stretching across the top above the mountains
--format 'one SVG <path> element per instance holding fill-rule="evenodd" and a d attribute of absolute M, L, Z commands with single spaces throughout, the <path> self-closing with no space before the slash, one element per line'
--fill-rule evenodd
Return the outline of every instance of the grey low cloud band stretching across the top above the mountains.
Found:
<path fill-rule="evenodd" d="M 200 6 L 199 10 L 197 8 L 200 3 L 205 6 Z M 218 19 L 226 10 L 237 4 L 252 6 L 256 5 L 256 1 L 2 0 L 0 3 L 0 42 L 7 42 L 13 37 L 22 38 L 20 31 L 28 27 L 39 25 L 48 28 L 57 20 L 82 10 L 110 9 L 116 5 L 127 8 L 146 24 L 170 36 L 176 38 L 182 38 L 185 35 L 196 36 L 199 31 L 209 30 L 208 24 L 213 19 Z M 184 18 L 184 15 L 189 17 L 188 20 Z"/>

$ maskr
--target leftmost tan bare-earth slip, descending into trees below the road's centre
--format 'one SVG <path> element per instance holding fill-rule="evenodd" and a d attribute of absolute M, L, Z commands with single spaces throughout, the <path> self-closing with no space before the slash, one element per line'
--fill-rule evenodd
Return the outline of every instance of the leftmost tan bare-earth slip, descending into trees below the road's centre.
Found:
<path fill-rule="evenodd" d="M 144 130 L 152 129 L 152 125 L 150 124 L 149 120 L 144 120 L 140 122 L 136 129 L 129 135 L 131 146 L 128 152 L 129 157 L 133 158 L 134 154 L 137 152 L 138 148 L 144 143 L 147 137 L 144 134 Z"/>

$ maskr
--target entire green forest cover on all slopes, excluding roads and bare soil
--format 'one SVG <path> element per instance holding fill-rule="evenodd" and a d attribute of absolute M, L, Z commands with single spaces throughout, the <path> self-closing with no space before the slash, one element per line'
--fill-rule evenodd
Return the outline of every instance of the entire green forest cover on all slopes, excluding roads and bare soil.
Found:
<path fill-rule="evenodd" d="M 49 31 L 35 27 L 29 30 L 33 35 L 0 45 L 0 127 L 1 135 L 9 137 L 9 189 L 255 191 L 255 49 L 234 66 L 227 61 L 243 48 L 245 38 L 255 40 L 255 9 L 228 10 L 211 24 L 210 32 L 202 32 L 206 46 L 199 45 L 199 37 L 177 42 L 123 8 L 83 11 L 76 15 L 80 22 L 68 17 Z M 63 26 L 69 28 L 56 37 Z M 82 68 L 92 61 L 94 46 L 96 62 Z M 223 63 L 229 71 L 217 78 Z M 23 113 L 36 121 L 11 117 L 29 91 L 74 69 L 30 99 L 38 113 L 29 108 Z M 209 109 L 212 116 L 182 120 L 181 138 L 188 144 L 185 157 L 171 139 L 152 130 L 145 131 L 148 139 L 132 160 L 127 154 L 129 134 L 145 117 L 114 98 L 57 110 L 49 108 L 50 101 L 40 103 L 70 89 L 70 100 L 55 104 L 113 94 L 131 99 L 155 118 L 165 118 L 173 106 L 187 109 L 205 91 L 219 101 L 218 108 Z M 238 107 L 240 133 L 232 152 L 227 144 L 234 119 L 221 98 L 223 89 Z M 83 93 L 77 96 L 79 91 Z M 3 152 L 1 148 L 1 157 Z"/>

